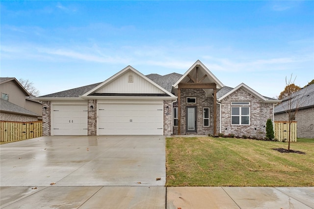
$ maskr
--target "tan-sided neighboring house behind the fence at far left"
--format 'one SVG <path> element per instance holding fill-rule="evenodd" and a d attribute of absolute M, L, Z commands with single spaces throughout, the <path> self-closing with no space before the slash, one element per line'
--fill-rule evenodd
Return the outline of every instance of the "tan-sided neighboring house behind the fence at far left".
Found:
<path fill-rule="evenodd" d="M 16 78 L 0 78 L 0 120 L 14 122 L 38 121 L 42 103 L 35 100 Z"/>

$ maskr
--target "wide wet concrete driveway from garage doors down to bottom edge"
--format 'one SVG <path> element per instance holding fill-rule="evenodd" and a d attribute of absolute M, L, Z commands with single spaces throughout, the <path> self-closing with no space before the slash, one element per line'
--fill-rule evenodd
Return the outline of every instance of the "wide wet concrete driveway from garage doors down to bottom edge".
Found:
<path fill-rule="evenodd" d="M 1 208 L 164 208 L 165 176 L 164 136 L 45 136 L 0 145 Z"/>

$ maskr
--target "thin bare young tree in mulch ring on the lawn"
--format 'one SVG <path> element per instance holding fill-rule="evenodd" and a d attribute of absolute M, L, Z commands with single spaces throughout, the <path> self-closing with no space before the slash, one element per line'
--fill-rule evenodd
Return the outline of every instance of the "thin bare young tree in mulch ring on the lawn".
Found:
<path fill-rule="evenodd" d="M 295 120 L 295 116 L 298 113 L 298 110 L 300 108 L 300 106 L 302 105 L 302 103 L 304 102 L 302 100 L 305 91 L 301 92 L 299 91 L 295 91 L 295 85 L 294 85 L 294 81 L 295 81 L 296 77 L 294 79 L 292 79 L 292 74 L 290 76 L 289 79 L 287 79 L 286 77 L 286 88 L 285 88 L 285 92 L 286 92 L 286 97 L 282 100 L 282 105 L 288 115 L 288 150 L 290 150 L 290 128 L 291 128 L 291 123 L 292 121 Z"/>

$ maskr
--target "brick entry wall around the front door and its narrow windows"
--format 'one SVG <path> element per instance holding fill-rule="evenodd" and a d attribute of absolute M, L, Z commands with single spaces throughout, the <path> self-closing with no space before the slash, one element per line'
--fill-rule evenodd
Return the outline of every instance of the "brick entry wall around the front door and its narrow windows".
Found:
<path fill-rule="evenodd" d="M 186 97 L 196 97 L 196 104 L 186 104 Z M 181 135 L 213 134 L 213 98 L 206 97 L 203 89 L 181 89 Z M 178 106 L 178 102 L 174 103 Z M 186 107 L 196 106 L 196 132 L 186 132 Z M 203 107 L 209 107 L 209 127 L 203 127 Z M 218 127 L 218 123 L 217 123 Z M 173 127 L 173 134 L 178 134 L 178 127 Z"/>

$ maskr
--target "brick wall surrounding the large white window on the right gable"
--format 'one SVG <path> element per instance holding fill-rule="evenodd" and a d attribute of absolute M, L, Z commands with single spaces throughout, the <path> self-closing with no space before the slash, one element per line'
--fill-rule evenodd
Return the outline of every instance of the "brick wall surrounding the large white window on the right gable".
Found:
<path fill-rule="evenodd" d="M 231 102 L 250 102 L 250 125 L 231 125 Z M 273 120 L 273 104 L 261 103 L 242 88 L 223 99 L 221 108 L 221 132 L 225 135 L 233 133 L 235 136 L 264 138 L 266 121 L 268 118 Z"/>

